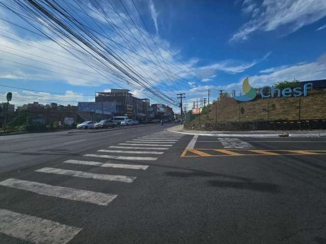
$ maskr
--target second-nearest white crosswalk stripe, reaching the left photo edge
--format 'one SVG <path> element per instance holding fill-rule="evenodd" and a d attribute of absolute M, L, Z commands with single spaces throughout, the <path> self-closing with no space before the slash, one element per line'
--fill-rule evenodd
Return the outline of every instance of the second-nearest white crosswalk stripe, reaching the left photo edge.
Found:
<path fill-rule="evenodd" d="M 40 195 L 94 203 L 103 206 L 106 206 L 118 196 L 101 192 L 91 192 L 68 187 L 52 186 L 40 182 L 20 180 L 15 178 L 10 178 L 1 181 L 0 186 L 17 188 L 25 191 L 34 192 Z"/>

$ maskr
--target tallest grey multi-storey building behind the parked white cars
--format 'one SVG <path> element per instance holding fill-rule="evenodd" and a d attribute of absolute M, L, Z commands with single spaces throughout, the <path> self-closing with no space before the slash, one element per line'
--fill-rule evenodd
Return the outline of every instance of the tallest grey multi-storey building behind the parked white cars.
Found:
<path fill-rule="evenodd" d="M 149 99 L 134 97 L 127 89 L 111 89 L 110 93 L 100 92 L 95 97 L 95 103 L 116 102 L 121 106 L 120 110 L 115 110 L 114 115 L 125 115 L 131 119 L 140 121 L 149 120 Z"/>

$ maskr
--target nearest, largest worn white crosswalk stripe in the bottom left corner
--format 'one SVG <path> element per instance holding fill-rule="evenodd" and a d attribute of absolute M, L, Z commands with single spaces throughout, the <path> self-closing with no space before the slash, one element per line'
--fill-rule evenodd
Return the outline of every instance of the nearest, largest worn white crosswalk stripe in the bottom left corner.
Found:
<path fill-rule="evenodd" d="M 0 233 L 32 243 L 65 244 L 81 228 L 0 208 Z"/>

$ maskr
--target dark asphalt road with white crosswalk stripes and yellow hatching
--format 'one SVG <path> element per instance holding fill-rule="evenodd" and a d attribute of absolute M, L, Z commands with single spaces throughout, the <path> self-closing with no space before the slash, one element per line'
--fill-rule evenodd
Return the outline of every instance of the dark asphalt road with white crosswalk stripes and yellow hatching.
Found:
<path fill-rule="evenodd" d="M 1 136 L 0 243 L 326 243 L 325 139 L 172 125 Z"/>

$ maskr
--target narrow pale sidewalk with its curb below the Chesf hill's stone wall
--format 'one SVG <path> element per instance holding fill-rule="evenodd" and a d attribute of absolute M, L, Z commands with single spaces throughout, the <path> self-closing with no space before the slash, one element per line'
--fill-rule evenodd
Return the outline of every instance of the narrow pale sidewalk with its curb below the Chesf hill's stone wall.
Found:
<path fill-rule="evenodd" d="M 326 130 L 314 131 L 188 131 L 182 125 L 174 126 L 167 131 L 199 136 L 220 137 L 326 137 Z"/>

